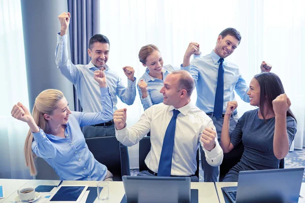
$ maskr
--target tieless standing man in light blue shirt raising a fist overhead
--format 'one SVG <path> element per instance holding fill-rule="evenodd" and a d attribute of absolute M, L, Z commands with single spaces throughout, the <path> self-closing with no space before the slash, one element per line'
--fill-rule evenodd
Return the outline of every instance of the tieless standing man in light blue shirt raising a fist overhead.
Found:
<path fill-rule="evenodd" d="M 57 35 L 57 46 L 55 50 L 56 64 L 60 72 L 71 81 L 77 90 L 80 105 L 83 112 L 99 112 L 102 110 L 100 103 L 100 90 L 93 79 L 94 71 L 104 71 L 107 77 L 107 87 L 113 101 L 113 111 L 116 110 L 118 96 L 127 105 L 132 105 L 136 97 L 136 78 L 134 69 L 130 66 L 123 67 L 128 77 L 128 86 L 124 86 L 115 71 L 106 65 L 109 56 L 109 40 L 103 35 L 95 35 L 89 41 L 88 55 L 91 61 L 87 65 L 74 65 L 68 59 L 67 31 L 70 23 L 70 13 L 64 12 L 58 16 L 61 29 Z M 113 120 L 83 127 L 85 138 L 114 136 Z M 128 149 L 121 145 L 121 167 L 123 175 L 130 175 Z"/>

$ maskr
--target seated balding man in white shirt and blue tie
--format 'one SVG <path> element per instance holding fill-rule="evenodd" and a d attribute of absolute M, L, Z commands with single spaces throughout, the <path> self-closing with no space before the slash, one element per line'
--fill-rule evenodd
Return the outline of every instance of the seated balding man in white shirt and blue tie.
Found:
<path fill-rule="evenodd" d="M 142 171 L 138 176 L 160 175 L 161 160 L 164 158 L 162 152 L 171 146 L 165 141 L 168 131 L 173 131 L 172 156 L 169 165 L 164 166 L 162 163 L 162 167 L 170 167 L 170 176 L 189 176 L 192 181 L 198 182 L 194 174 L 199 144 L 210 165 L 219 166 L 222 163 L 223 151 L 217 142 L 212 120 L 191 102 L 194 87 L 195 82 L 190 73 L 174 71 L 166 77 L 160 90 L 164 96 L 163 103 L 148 108 L 135 125 L 126 127 L 127 109 L 114 112 L 115 136 L 123 145 L 137 144 L 150 131 L 151 149 L 145 159 L 148 171 Z M 167 130 L 172 122 L 173 110 L 179 111 L 174 121 L 175 128 Z M 166 147 L 163 147 L 163 143 L 166 143 Z M 168 154 L 167 151 L 166 153 Z"/>

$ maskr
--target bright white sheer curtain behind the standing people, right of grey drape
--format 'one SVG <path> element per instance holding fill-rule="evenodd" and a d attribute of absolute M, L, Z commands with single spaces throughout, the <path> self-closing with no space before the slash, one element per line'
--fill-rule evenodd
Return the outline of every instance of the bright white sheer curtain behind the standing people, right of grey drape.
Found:
<path fill-rule="evenodd" d="M 263 60 L 273 65 L 272 72 L 280 76 L 292 101 L 291 109 L 298 121 L 294 147 L 301 149 L 305 112 L 304 8 L 302 0 L 101 0 L 101 33 L 110 40 L 109 67 L 127 84 L 123 66 L 133 66 L 137 78 L 145 71 L 138 59 L 142 46 L 157 45 L 165 64 L 179 66 L 190 42 L 199 43 L 202 54 L 208 54 L 223 29 L 236 28 L 241 43 L 228 59 L 240 67 L 248 83 L 260 72 Z M 239 116 L 253 108 L 239 98 L 237 101 Z M 129 126 L 143 113 L 138 95 L 134 105 L 118 103 L 117 107 L 128 109 Z M 137 167 L 138 146 L 129 151 L 131 167 Z"/>

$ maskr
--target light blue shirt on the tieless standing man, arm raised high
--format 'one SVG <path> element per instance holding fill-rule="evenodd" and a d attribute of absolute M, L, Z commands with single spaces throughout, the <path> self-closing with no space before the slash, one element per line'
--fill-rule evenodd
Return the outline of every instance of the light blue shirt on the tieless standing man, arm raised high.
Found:
<path fill-rule="evenodd" d="M 62 37 L 57 34 L 56 65 L 60 72 L 75 85 L 83 112 L 100 112 L 102 105 L 96 102 L 100 100 L 100 87 L 93 77 L 94 72 L 99 69 L 91 61 L 87 65 L 74 65 L 68 59 L 67 43 L 67 35 Z M 107 65 L 105 65 L 104 72 L 113 101 L 113 112 L 116 110 L 116 96 L 125 104 L 132 105 L 136 98 L 136 79 L 134 82 L 128 80 L 126 88 L 117 73 L 110 70 Z"/>

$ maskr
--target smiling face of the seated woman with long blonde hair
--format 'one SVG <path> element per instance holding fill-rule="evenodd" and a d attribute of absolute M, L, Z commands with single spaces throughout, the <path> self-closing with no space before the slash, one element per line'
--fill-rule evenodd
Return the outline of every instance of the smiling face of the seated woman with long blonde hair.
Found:
<path fill-rule="evenodd" d="M 66 125 L 69 120 L 71 111 L 68 107 L 68 101 L 66 97 L 63 97 L 58 101 L 57 108 L 53 111 L 52 115 L 45 114 L 44 117 L 48 122 L 52 123 L 52 126 Z"/>

